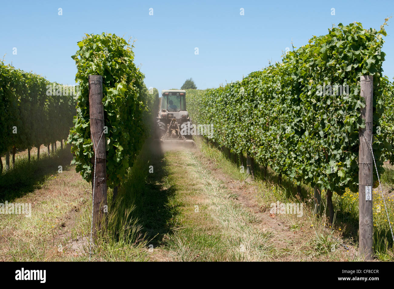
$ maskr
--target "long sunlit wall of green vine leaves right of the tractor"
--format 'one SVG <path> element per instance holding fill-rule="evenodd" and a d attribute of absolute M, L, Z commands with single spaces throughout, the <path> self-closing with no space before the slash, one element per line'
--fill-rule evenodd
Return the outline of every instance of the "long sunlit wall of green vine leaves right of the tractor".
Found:
<path fill-rule="evenodd" d="M 355 190 L 359 127 L 365 126 L 360 116 L 365 105 L 359 93 L 362 75 L 374 75 L 373 147 L 379 170 L 381 149 L 388 148 L 379 131 L 384 25 L 377 31 L 359 22 L 338 24 L 288 52 L 281 63 L 242 81 L 205 93 L 188 91 L 191 117 L 196 123 L 213 123 L 213 140 L 220 146 L 248 153 L 297 184 L 338 193 L 346 187 Z M 335 87 L 330 93 L 329 86 L 335 85 L 348 85 L 348 95 Z"/>

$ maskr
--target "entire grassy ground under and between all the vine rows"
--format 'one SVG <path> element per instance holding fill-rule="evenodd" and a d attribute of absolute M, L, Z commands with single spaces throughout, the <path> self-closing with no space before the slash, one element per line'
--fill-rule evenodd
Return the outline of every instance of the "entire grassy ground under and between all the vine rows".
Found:
<path fill-rule="evenodd" d="M 267 174 L 257 168 L 251 180 L 221 151 L 197 143 L 200 151 L 162 152 L 155 145 L 145 145 L 119 187 L 115 203 L 108 190 L 108 227 L 92 246 L 93 261 L 358 260 L 357 193 L 347 190 L 342 196 L 333 195 L 337 211 L 331 227 L 325 214 L 313 213 L 309 186 L 303 185 L 300 198 L 295 183 L 283 178 L 278 185 L 277 175 L 269 168 Z M 215 170 L 208 169 L 201 156 Z M 0 215 L 2 260 L 88 261 L 91 184 L 68 165 L 68 148 L 51 157 L 42 154 L 39 162 L 34 155 L 30 164 L 26 158 L 17 158 L 15 168 L 0 176 L 2 200 L 32 203 L 30 218 Z M 62 173 L 58 165 L 63 165 Z M 253 193 L 261 213 L 242 205 L 238 193 L 218 173 Z M 390 169 L 382 175 L 390 220 L 394 219 L 393 177 Z M 375 255 L 392 261 L 392 238 L 379 190 L 373 196 Z M 323 209 L 324 197 L 325 192 Z M 275 213 L 271 223 L 263 220 L 261 216 L 268 216 L 277 201 L 302 203 L 303 216 Z"/>

